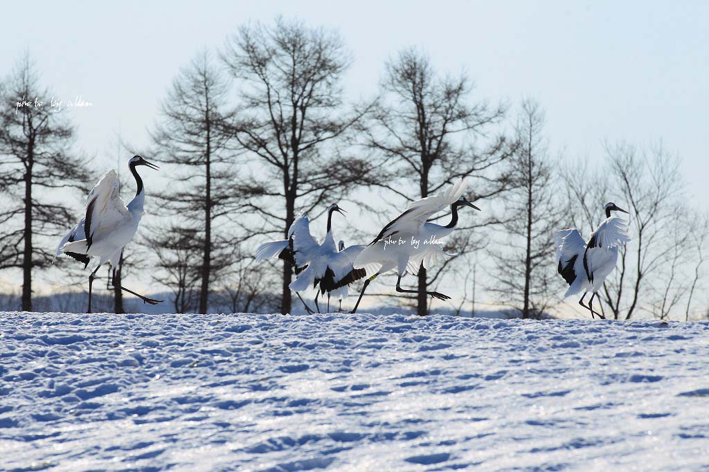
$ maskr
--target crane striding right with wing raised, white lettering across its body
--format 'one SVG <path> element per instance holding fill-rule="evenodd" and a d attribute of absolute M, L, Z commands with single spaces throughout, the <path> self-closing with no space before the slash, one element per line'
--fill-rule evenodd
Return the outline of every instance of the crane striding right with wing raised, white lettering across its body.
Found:
<path fill-rule="evenodd" d="M 480 210 L 467 201 L 463 191 L 467 181 L 459 179 L 455 184 L 435 196 L 421 198 L 408 204 L 406 210 L 391 220 L 379 232 L 372 242 L 364 248 L 354 261 L 354 269 L 366 269 L 367 274 L 374 274 L 364 281 L 362 292 L 359 293 L 357 303 L 352 313 L 357 312 L 359 302 L 362 301 L 364 291 L 369 283 L 391 269 L 398 270 L 396 291 L 399 293 L 418 293 L 416 290 L 401 288 L 401 276 L 408 271 L 416 274 L 423 264 L 429 269 L 437 260 L 447 254 L 443 250 L 442 238 L 450 235 L 458 224 L 458 208 L 469 206 Z M 428 223 L 428 219 L 435 213 L 445 210 L 450 206 L 451 220 L 445 226 Z M 450 297 L 438 292 L 426 292 L 439 300 L 450 300 Z"/>

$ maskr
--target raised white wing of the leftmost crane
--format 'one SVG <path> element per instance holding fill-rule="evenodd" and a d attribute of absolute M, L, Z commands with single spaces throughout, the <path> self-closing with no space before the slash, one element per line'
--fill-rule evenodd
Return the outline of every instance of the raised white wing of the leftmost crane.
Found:
<path fill-rule="evenodd" d="M 86 197 L 84 232 L 88 247 L 96 235 L 111 232 L 119 223 L 130 221 L 130 212 L 118 195 L 120 187 L 116 171 L 111 169 Z"/>

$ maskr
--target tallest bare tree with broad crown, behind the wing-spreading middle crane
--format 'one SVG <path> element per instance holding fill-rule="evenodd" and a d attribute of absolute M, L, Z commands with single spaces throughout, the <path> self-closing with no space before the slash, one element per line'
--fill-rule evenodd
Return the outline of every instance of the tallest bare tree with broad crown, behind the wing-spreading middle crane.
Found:
<path fill-rule="evenodd" d="M 277 18 L 230 38 L 223 61 L 238 81 L 240 113 L 233 131 L 246 151 L 240 188 L 255 234 L 284 235 L 296 210 L 340 198 L 367 172 L 362 159 L 335 146 L 362 112 L 342 101 L 340 82 L 350 57 L 338 33 Z M 291 311 L 292 269 L 284 262 L 281 312 Z"/>

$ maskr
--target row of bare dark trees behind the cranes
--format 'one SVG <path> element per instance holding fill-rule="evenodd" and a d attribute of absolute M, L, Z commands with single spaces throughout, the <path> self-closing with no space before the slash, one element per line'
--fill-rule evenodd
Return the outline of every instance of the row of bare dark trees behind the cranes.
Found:
<path fill-rule="evenodd" d="M 359 244 L 406 202 L 467 177 L 467 198 L 485 211 L 446 241 L 456 255 L 420 268 L 418 294 L 379 296 L 426 315 L 425 292 L 453 283 L 464 291 L 459 312 L 484 288 L 488 303 L 540 318 L 564 290 L 552 232 L 590 232 L 613 200 L 630 207 L 634 240 L 599 293 L 603 313 L 689 318 L 702 310 L 709 220 L 686 201 L 679 158 L 662 145 L 608 142 L 603 156 L 586 159 L 554 152 L 540 103 L 491 103 L 467 74 L 440 72 L 415 47 L 384 64 L 376 96 L 350 103 L 343 78 L 352 61 L 336 30 L 277 18 L 242 26 L 180 69 L 150 145 L 127 146 L 164 164 L 170 184 L 149 195 L 160 211 L 125 248 L 116 275 L 148 271 L 172 291 L 178 313 L 290 313 L 291 266 L 257 266 L 252 248 L 287 237 L 299 211 L 312 219 L 352 201 L 374 222 L 341 230 L 348 245 Z M 22 274 L 22 310 L 33 308 L 33 277 L 52 262 L 52 238 L 78 215 L 52 189 L 79 201 L 99 179 L 74 150 L 65 115 L 16 108 L 21 97 L 50 95 L 29 55 L 0 82 L 0 274 Z M 70 265 L 61 269 L 82 277 Z M 121 291 L 113 309 L 123 311 Z"/>

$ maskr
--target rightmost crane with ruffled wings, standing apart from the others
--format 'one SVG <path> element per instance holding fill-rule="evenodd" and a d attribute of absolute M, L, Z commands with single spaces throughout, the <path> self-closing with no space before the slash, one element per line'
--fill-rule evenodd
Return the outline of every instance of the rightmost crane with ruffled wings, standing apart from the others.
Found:
<path fill-rule="evenodd" d="M 579 300 L 579 305 L 591 310 L 598 318 L 605 318 L 601 313 L 593 311 L 593 298 L 601 290 L 605 278 L 615 269 L 618 261 L 618 248 L 630 242 L 630 227 L 628 220 L 611 216 L 611 211 L 622 211 L 615 203 L 606 203 L 605 221 L 598 225 L 596 231 L 591 233 L 588 243 L 579 234 L 579 230 L 569 229 L 554 233 L 554 245 L 557 247 L 557 262 L 559 274 L 564 277 L 569 289 L 564 293 L 564 298 L 584 291 Z M 584 298 L 591 292 L 588 305 L 584 305 Z"/>

